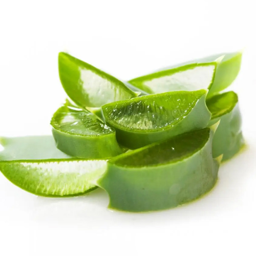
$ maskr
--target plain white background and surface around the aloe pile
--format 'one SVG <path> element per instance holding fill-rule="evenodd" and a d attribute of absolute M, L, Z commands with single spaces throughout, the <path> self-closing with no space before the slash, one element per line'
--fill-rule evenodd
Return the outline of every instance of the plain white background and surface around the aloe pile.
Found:
<path fill-rule="evenodd" d="M 0 0 L 0 135 L 50 134 L 65 100 L 57 54 L 123 80 L 244 48 L 239 93 L 247 148 L 214 190 L 172 210 L 108 210 L 108 196 L 49 199 L 0 173 L 0 255 L 255 255 L 255 7 L 244 1 Z"/>

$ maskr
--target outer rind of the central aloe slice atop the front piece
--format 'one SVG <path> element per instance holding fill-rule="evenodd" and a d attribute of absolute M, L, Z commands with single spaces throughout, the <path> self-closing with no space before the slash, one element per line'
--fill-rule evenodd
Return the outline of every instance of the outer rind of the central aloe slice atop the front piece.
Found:
<path fill-rule="evenodd" d="M 165 129 L 157 132 L 126 131 L 120 129 L 119 126 L 113 125 L 113 123 L 108 122 L 108 119 L 105 119 L 105 121 L 106 124 L 116 130 L 117 141 L 121 145 L 127 148 L 136 149 L 188 131 L 204 128 L 207 126 L 210 120 L 210 116 L 211 114 L 205 104 L 204 94 L 198 100 L 193 110 L 191 110 L 191 112 L 183 120 L 170 127 L 168 130 Z"/>

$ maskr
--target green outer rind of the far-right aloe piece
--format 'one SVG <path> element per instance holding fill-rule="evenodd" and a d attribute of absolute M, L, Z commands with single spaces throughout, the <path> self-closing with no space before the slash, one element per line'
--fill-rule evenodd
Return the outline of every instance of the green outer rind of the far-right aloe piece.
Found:
<path fill-rule="evenodd" d="M 223 154 L 222 161 L 225 161 L 236 155 L 245 145 L 238 103 L 231 112 L 211 120 L 209 125 L 219 120 L 220 124 L 212 141 L 212 155 L 217 157 Z"/>

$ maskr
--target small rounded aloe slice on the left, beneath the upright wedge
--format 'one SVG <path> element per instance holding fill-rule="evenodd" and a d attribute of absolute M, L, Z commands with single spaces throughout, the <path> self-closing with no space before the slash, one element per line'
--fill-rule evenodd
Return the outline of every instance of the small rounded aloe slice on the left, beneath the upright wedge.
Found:
<path fill-rule="evenodd" d="M 57 148 L 66 154 L 83 159 L 106 159 L 123 153 L 115 130 L 69 101 L 55 112 L 51 125 Z"/>

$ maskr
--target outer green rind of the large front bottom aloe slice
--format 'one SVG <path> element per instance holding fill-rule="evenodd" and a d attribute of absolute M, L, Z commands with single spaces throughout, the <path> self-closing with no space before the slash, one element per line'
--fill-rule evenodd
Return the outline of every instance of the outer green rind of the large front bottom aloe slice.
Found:
<path fill-rule="evenodd" d="M 212 134 L 200 151 L 176 163 L 131 168 L 117 166 L 112 159 L 97 182 L 109 194 L 109 207 L 134 212 L 162 210 L 207 193 L 215 185 L 219 169 L 212 159 Z"/>

